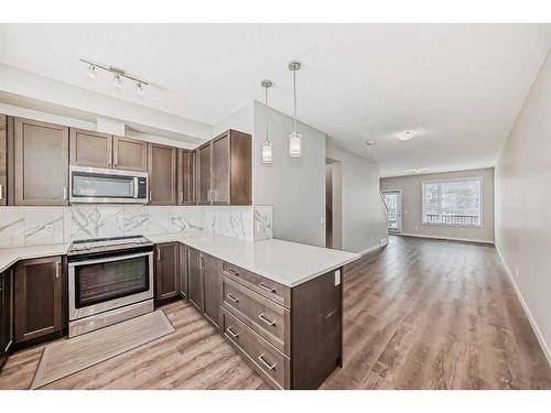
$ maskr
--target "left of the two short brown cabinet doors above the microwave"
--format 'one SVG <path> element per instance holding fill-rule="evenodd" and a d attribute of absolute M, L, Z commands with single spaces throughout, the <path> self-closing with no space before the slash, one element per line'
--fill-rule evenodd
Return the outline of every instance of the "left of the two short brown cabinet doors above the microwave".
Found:
<path fill-rule="evenodd" d="M 90 167 L 111 167 L 112 137 L 71 128 L 69 163 Z"/>

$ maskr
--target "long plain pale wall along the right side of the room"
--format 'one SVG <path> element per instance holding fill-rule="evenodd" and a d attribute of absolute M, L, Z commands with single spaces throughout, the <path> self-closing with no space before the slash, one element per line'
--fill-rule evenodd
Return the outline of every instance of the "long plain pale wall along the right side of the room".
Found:
<path fill-rule="evenodd" d="M 496 247 L 551 365 L 551 52 L 496 165 Z"/>

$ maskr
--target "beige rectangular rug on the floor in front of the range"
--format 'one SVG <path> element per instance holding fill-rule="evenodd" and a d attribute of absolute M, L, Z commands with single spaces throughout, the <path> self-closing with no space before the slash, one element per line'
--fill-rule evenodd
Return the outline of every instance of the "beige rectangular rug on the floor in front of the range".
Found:
<path fill-rule="evenodd" d="M 31 389 L 39 389 L 125 351 L 174 333 L 163 311 L 52 343 L 42 354 Z"/>

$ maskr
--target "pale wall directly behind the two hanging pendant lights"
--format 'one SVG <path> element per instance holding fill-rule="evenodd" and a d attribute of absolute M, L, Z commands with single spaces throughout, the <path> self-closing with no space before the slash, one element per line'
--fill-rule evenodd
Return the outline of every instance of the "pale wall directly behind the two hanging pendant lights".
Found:
<path fill-rule="evenodd" d="M 273 163 L 261 162 L 261 144 L 269 113 Z M 325 247 L 325 133 L 298 123 L 302 133 L 302 157 L 289 156 L 293 119 L 253 102 L 252 199 L 273 205 L 273 237 Z"/>

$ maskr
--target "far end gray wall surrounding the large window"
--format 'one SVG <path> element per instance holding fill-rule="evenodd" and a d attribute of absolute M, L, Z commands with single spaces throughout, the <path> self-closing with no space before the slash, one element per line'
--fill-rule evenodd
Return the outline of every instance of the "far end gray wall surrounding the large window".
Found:
<path fill-rule="evenodd" d="M 422 222 L 422 181 L 451 180 L 457 177 L 483 177 L 483 226 L 452 227 L 423 225 Z M 408 175 L 381 178 L 381 191 L 402 191 L 402 233 L 494 242 L 494 169 L 446 172 L 439 174 Z"/>

